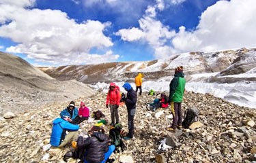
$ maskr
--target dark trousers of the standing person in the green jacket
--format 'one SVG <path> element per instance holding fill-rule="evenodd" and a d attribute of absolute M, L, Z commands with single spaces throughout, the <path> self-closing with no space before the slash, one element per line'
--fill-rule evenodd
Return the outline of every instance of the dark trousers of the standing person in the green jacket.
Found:
<path fill-rule="evenodd" d="M 171 113 L 173 114 L 171 128 L 176 129 L 177 125 L 182 126 L 182 103 L 171 102 Z"/>

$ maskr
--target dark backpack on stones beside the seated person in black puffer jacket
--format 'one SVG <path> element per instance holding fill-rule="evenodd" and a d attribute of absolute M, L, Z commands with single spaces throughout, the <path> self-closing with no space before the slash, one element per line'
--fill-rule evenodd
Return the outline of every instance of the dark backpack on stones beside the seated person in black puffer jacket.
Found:
<path fill-rule="evenodd" d="M 126 148 L 122 140 L 121 133 L 124 134 L 124 130 L 122 130 L 122 124 L 115 124 L 115 126 L 112 126 L 109 130 L 111 145 L 115 145 L 115 151 L 117 151 L 117 153 L 119 153 L 119 149 L 117 147 L 120 147 L 122 151 L 124 151 L 124 149 Z"/>

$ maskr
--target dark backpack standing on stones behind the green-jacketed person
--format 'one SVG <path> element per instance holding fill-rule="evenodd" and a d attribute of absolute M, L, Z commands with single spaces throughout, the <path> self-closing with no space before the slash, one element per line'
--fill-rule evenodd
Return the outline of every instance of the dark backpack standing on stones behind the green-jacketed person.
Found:
<path fill-rule="evenodd" d="M 184 121 L 182 122 L 182 128 L 189 128 L 191 124 L 197 121 L 199 110 L 196 107 L 192 109 L 186 109 L 184 113 Z"/>

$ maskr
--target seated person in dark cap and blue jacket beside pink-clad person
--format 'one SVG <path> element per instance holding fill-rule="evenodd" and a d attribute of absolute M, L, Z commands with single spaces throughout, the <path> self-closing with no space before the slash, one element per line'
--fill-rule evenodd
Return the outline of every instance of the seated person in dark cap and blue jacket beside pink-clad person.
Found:
<path fill-rule="evenodd" d="M 74 106 L 74 101 L 71 101 L 68 107 L 61 111 L 60 115 L 62 119 L 67 117 L 68 122 L 72 122 L 79 115 L 78 109 Z"/>

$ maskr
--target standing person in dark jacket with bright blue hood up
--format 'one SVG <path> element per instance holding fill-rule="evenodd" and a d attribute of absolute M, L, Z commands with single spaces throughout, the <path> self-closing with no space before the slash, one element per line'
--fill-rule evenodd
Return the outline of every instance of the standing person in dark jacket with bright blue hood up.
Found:
<path fill-rule="evenodd" d="M 125 140 L 129 140 L 133 138 L 134 134 L 134 115 L 136 112 L 136 103 L 137 103 L 137 93 L 132 89 L 129 83 L 125 83 L 123 88 L 127 91 L 126 98 L 124 98 L 124 103 L 126 103 L 127 111 L 128 111 L 128 129 L 129 132 L 124 137 Z"/>

